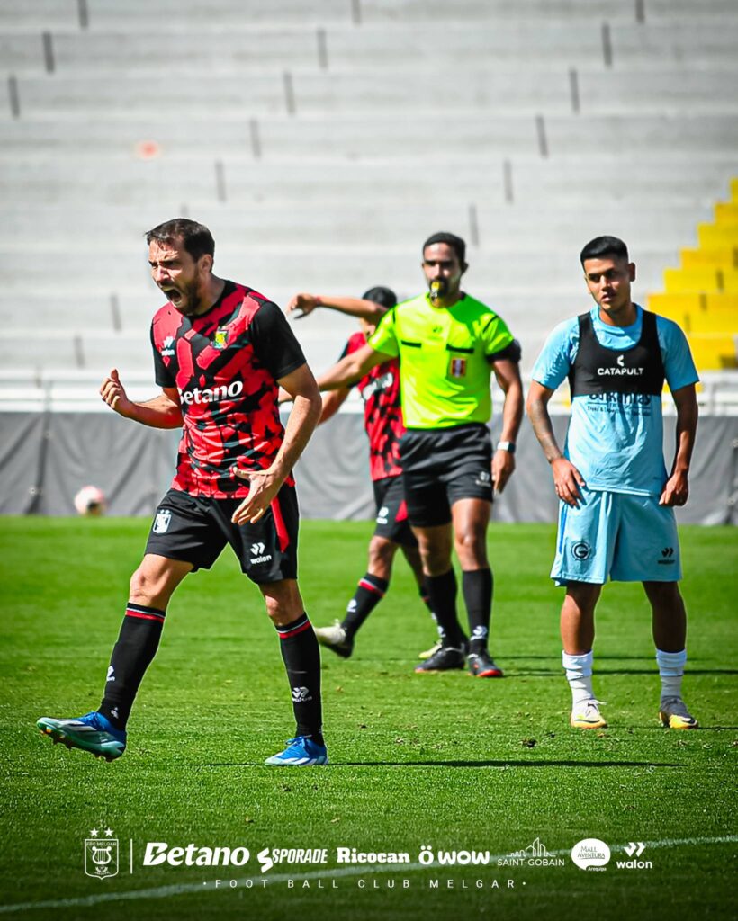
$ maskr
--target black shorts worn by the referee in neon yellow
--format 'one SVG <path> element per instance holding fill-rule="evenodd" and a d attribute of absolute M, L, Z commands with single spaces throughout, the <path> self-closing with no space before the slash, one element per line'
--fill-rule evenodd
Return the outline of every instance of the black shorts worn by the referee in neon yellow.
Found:
<path fill-rule="evenodd" d="M 448 524 L 451 506 L 459 499 L 492 501 L 492 443 L 486 426 L 408 429 L 399 450 L 411 525 Z"/>

